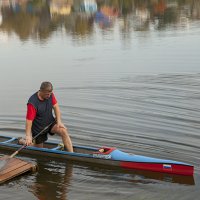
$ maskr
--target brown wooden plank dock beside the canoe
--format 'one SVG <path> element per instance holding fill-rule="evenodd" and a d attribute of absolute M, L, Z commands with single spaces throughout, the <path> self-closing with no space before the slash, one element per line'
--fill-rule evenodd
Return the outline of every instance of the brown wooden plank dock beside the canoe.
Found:
<path fill-rule="evenodd" d="M 1 160 L 5 160 L 6 162 L 5 166 L 0 169 L 0 184 L 28 171 L 36 171 L 37 169 L 35 164 L 23 161 L 19 158 L 4 156 L 0 158 L 0 161 Z"/>

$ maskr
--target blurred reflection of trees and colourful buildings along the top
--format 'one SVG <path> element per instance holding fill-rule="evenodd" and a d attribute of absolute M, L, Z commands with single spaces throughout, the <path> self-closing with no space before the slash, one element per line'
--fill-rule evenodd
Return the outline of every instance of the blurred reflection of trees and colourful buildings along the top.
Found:
<path fill-rule="evenodd" d="M 200 19 L 200 1 L 140 0 L 0 0 L 0 35 L 15 33 L 21 40 L 44 40 L 65 30 L 74 37 L 112 29 L 122 33 L 188 28 Z"/>

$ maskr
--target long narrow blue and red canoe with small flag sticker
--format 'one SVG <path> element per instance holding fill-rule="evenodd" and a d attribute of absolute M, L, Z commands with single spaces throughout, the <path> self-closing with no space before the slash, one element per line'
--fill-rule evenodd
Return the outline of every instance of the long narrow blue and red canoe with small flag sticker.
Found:
<path fill-rule="evenodd" d="M 16 150 L 21 145 L 17 144 L 15 137 L 0 136 L 0 148 L 5 150 Z M 103 152 L 101 152 L 103 149 Z M 26 147 L 24 153 L 42 155 L 48 157 L 65 158 L 75 161 L 117 166 L 120 168 L 148 170 L 169 174 L 180 174 L 192 176 L 194 167 L 187 163 L 172 160 L 157 159 L 146 156 L 128 154 L 116 148 L 103 147 L 93 148 L 85 146 L 74 146 L 74 153 L 61 150 L 61 146 L 55 142 L 46 142 L 45 148 Z"/>

